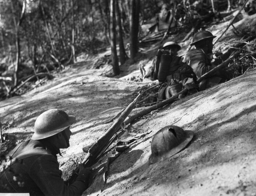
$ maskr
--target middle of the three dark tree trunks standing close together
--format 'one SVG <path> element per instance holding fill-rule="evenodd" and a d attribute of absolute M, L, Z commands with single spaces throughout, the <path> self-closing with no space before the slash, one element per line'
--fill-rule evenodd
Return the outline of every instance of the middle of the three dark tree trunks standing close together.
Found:
<path fill-rule="evenodd" d="M 118 35 L 119 35 L 119 58 L 121 65 L 124 64 L 126 59 L 128 58 L 124 49 L 124 40 L 123 40 L 123 31 L 122 31 L 122 23 L 121 23 L 121 16 L 120 10 L 118 6 L 118 1 L 115 2 L 116 4 L 116 19 L 118 24 Z"/>

